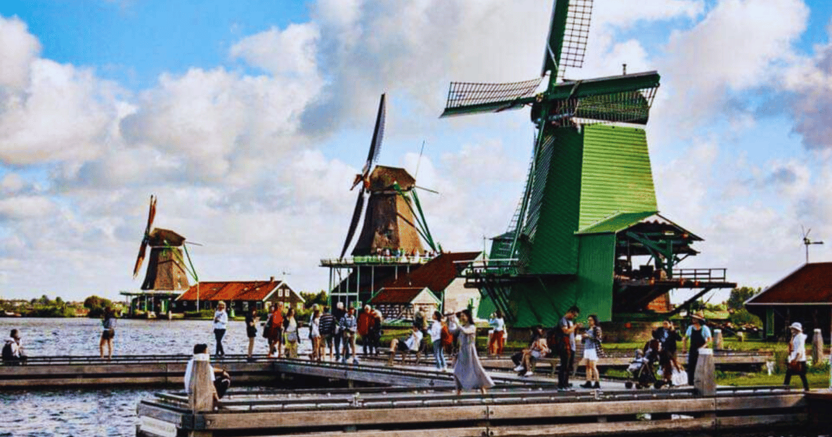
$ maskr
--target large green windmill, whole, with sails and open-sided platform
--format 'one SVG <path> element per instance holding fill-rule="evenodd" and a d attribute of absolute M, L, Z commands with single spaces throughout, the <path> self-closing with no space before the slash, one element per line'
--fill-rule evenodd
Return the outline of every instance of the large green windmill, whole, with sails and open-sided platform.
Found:
<path fill-rule="evenodd" d="M 601 321 L 666 316 L 715 288 L 725 269 L 678 269 L 701 238 L 659 215 L 645 131 L 657 72 L 564 80 L 582 67 L 592 0 L 555 0 L 541 77 L 452 82 L 442 117 L 531 107 L 537 135 L 522 199 L 490 260 L 463 271 L 518 327 L 571 305 Z M 538 92 L 548 77 L 545 90 Z M 625 126 L 626 125 L 626 126 Z M 668 292 L 696 289 L 671 309 Z"/>

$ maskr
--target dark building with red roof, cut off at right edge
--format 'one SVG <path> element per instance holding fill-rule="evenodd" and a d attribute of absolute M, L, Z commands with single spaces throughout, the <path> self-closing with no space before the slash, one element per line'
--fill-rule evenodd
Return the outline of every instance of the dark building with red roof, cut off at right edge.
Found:
<path fill-rule="evenodd" d="M 789 325 L 799 321 L 811 339 L 815 328 L 830 338 L 832 327 L 832 262 L 815 262 L 760 291 L 745 308 L 763 320 L 765 338 L 785 338 Z"/>

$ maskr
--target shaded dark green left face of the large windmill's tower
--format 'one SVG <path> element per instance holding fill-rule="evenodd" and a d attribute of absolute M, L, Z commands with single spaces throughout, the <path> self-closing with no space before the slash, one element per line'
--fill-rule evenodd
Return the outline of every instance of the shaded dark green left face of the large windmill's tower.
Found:
<path fill-rule="evenodd" d="M 529 201 L 529 226 L 523 230 L 529 241 L 521 246 L 521 263 L 528 273 L 575 274 L 582 134 L 572 127 L 562 127 L 555 129 L 546 143 L 548 149 L 541 156 L 548 153 L 550 157 L 538 162 Z M 545 179 L 540 177 L 542 174 Z"/>

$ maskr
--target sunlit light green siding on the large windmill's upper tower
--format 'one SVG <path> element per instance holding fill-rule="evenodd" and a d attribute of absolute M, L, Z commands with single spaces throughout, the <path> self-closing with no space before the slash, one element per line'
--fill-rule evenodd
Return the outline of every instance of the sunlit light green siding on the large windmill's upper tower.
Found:
<path fill-rule="evenodd" d="M 620 212 L 658 210 L 643 129 L 585 127 L 581 168 L 579 228 Z"/>

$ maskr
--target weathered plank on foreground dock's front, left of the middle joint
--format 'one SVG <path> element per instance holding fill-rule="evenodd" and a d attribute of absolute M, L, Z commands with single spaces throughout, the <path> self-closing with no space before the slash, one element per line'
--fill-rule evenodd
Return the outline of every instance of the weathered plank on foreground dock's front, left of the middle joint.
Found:
<path fill-rule="evenodd" d="M 396 409 L 355 409 L 346 410 L 309 410 L 285 412 L 252 413 L 206 413 L 204 417 L 206 430 L 247 430 L 257 428 L 292 428 L 296 426 L 315 425 L 387 425 L 387 424 L 424 424 L 441 421 L 485 420 L 485 405 L 468 405 L 453 407 L 421 407 Z M 323 423 L 315 424 L 314 420 Z"/>

